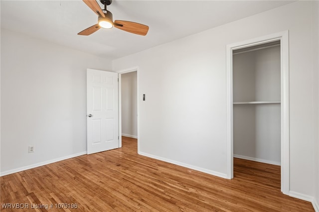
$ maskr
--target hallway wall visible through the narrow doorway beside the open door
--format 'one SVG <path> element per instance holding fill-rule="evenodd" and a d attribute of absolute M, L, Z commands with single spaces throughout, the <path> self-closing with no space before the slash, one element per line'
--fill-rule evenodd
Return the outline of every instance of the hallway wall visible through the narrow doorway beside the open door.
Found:
<path fill-rule="evenodd" d="M 122 135 L 137 138 L 137 71 L 121 75 Z"/>

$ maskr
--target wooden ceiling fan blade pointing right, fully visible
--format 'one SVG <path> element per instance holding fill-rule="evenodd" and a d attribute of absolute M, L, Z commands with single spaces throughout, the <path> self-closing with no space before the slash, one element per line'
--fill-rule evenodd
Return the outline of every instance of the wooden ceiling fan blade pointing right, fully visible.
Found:
<path fill-rule="evenodd" d="M 114 27 L 138 35 L 146 35 L 149 31 L 147 25 L 126 20 L 115 20 Z"/>

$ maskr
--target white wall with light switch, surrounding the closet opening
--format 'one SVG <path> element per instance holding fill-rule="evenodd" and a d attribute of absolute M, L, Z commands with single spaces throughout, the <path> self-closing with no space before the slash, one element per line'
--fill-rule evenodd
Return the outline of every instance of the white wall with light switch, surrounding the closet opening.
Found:
<path fill-rule="evenodd" d="M 114 70 L 139 66 L 147 95 L 139 153 L 226 177 L 226 45 L 288 29 L 290 190 L 314 197 L 311 10 L 297 1 L 114 60 Z"/>

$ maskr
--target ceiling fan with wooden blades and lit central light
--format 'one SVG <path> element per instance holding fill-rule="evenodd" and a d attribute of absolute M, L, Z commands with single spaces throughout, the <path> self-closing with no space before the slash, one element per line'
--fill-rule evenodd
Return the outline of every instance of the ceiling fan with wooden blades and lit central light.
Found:
<path fill-rule="evenodd" d="M 112 0 L 100 0 L 101 3 L 104 4 L 104 9 L 102 10 L 99 6 L 98 2 L 96 0 L 83 0 L 86 5 L 88 5 L 99 17 L 98 17 L 98 23 L 90 26 L 87 29 L 84 29 L 83 31 L 79 32 L 78 35 L 90 35 L 93 32 L 96 32 L 101 27 L 110 29 L 113 26 L 122 29 L 127 32 L 131 32 L 138 35 L 146 35 L 149 31 L 149 26 L 136 23 L 132 21 L 126 21 L 126 20 L 115 20 L 113 22 L 113 15 L 112 12 L 106 9 L 107 5 L 110 5 L 112 3 Z"/>

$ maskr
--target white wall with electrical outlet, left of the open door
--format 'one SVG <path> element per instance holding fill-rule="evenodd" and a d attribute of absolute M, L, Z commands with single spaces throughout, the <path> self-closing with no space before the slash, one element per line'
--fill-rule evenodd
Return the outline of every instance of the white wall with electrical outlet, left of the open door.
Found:
<path fill-rule="evenodd" d="M 1 175 L 85 153 L 86 69 L 111 66 L 1 29 Z"/>

